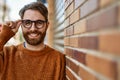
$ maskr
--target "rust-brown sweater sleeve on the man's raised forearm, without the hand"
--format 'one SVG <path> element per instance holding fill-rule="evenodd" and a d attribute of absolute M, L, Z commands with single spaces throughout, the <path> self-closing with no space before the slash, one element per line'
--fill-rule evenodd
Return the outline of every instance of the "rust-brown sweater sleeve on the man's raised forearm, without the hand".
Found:
<path fill-rule="evenodd" d="M 0 32 L 0 51 L 3 50 L 4 45 L 6 42 L 14 36 L 15 33 L 7 26 L 2 26 L 2 30 Z"/>

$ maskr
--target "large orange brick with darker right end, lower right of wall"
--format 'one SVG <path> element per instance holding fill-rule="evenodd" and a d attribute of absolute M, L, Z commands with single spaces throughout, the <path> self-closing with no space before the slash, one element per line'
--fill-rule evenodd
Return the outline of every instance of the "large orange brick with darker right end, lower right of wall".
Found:
<path fill-rule="evenodd" d="M 96 72 L 109 77 L 111 80 L 116 80 L 117 78 L 117 65 L 116 62 L 112 60 L 86 55 L 86 65 L 91 69 L 94 69 Z"/>

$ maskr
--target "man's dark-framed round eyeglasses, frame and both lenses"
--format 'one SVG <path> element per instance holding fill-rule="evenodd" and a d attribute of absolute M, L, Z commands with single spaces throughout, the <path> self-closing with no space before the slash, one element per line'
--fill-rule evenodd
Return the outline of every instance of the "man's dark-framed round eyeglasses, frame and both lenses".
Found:
<path fill-rule="evenodd" d="M 35 24 L 35 27 L 37 29 L 43 28 L 44 27 L 44 23 L 47 21 L 43 21 L 43 20 L 36 20 L 36 21 L 32 21 L 32 20 L 22 20 L 22 25 L 27 28 L 30 29 L 32 27 L 32 23 Z"/>

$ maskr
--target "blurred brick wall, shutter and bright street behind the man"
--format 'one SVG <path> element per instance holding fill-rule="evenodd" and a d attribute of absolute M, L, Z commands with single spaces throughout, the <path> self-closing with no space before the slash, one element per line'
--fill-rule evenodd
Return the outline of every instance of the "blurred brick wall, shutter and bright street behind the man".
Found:
<path fill-rule="evenodd" d="M 0 0 L 0 23 L 35 0 Z M 36 0 L 49 11 L 45 43 L 66 55 L 66 80 L 120 80 L 120 0 Z M 23 42 L 21 30 L 7 43 Z"/>

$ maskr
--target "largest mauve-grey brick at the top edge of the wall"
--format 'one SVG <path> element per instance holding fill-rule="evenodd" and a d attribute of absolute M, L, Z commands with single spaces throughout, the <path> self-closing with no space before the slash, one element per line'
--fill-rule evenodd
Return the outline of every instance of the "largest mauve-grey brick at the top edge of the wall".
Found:
<path fill-rule="evenodd" d="M 88 14 L 94 12 L 98 9 L 99 0 L 87 0 L 80 8 L 80 18 L 87 16 Z"/>

